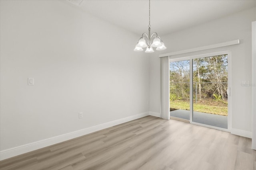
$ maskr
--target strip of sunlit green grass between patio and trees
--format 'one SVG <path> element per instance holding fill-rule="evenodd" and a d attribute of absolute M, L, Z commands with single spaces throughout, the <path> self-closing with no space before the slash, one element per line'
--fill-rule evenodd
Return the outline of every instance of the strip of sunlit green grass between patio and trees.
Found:
<path fill-rule="evenodd" d="M 212 103 L 212 104 L 210 104 Z M 216 114 L 216 115 L 228 115 L 228 107 L 223 106 L 222 103 L 218 102 L 210 102 L 207 104 L 193 104 L 193 110 L 194 111 L 199 111 L 203 113 L 211 113 L 211 114 Z M 219 106 L 218 106 L 219 105 Z M 184 100 L 175 100 L 175 101 L 170 101 L 170 108 L 171 109 L 184 109 L 184 110 L 190 110 L 190 105 L 189 101 L 184 101 Z"/>

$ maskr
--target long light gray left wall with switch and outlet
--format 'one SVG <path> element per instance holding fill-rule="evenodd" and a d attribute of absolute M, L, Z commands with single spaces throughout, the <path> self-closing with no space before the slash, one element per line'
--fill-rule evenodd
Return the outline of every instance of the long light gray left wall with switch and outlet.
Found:
<path fill-rule="evenodd" d="M 67 1 L 0 2 L 1 151 L 148 112 L 138 35 Z"/>

